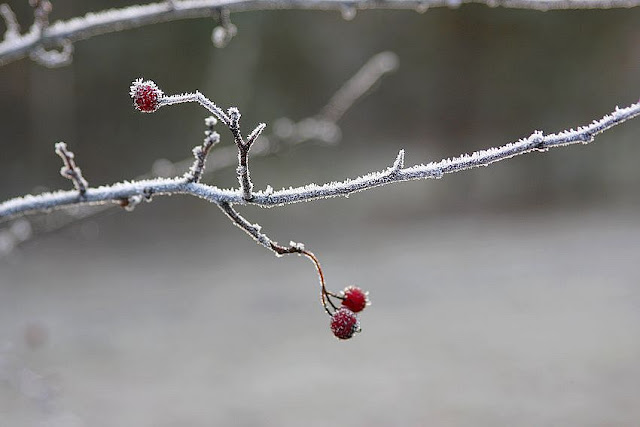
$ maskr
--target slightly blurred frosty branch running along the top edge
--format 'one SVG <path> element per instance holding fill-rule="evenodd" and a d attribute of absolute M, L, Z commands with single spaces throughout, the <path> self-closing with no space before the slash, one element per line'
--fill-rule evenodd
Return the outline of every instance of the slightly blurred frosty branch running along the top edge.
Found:
<path fill-rule="evenodd" d="M 39 10 L 49 1 L 35 0 L 34 25 L 30 30 L 15 37 L 5 37 L 0 43 L 0 65 L 16 61 L 44 49 L 68 46 L 79 40 L 85 40 L 100 34 L 108 34 L 139 28 L 161 22 L 194 18 L 215 17 L 220 25 L 213 31 L 213 42 L 224 46 L 236 32 L 228 17 L 232 12 L 258 10 L 318 10 L 337 11 L 345 19 L 353 19 L 359 10 L 369 9 L 405 9 L 420 13 L 429 8 L 456 8 L 463 4 L 484 4 L 490 7 L 502 6 L 516 9 L 557 10 L 557 9 L 609 9 L 629 8 L 640 5 L 640 0 L 171 0 L 145 5 L 134 5 L 121 9 L 109 9 L 90 12 L 82 17 L 56 21 L 43 25 L 48 19 Z M 8 7 L 7 5 L 5 5 Z M 6 8 L 5 8 L 6 10 Z M 3 13 L 3 16 L 7 14 Z M 48 24 L 48 20 L 46 21 Z M 65 48 L 64 52 L 69 52 Z M 38 58 L 36 53 L 35 58 Z M 59 66 L 69 62 L 69 58 L 60 63 L 45 63 Z"/>

